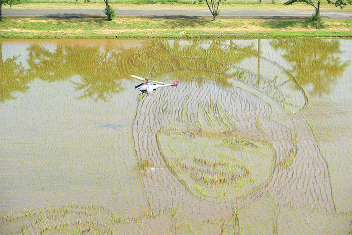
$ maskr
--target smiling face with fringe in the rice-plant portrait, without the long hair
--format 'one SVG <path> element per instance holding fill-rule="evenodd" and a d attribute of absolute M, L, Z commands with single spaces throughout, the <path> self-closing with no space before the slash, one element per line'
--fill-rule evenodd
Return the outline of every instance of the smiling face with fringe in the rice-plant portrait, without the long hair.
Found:
<path fill-rule="evenodd" d="M 181 115 L 161 129 L 158 142 L 164 161 L 192 193 L 233 201 L 270 178 L 276 156 L 261 126 L 272 121 L 260 110 L 270 106 L 240 89 L 207 87 L 198 91 L 190 82 L 181 88 L 187 94 L 178 102 Z M 163 112 L 174 108 L 165 99 Z M 285 134 L 289 141 L 291 133 Z"/>

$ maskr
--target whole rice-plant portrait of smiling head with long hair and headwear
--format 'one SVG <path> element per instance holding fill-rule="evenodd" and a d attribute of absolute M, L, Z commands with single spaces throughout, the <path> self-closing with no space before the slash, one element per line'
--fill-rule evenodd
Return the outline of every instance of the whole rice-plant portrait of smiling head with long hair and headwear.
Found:
<path fill-rule="evenodd" d="M 266 76 L 231 63 L 158 75 L 180 85 L 141 99 L 133 126 L 138 161 L 153 169 L 142 175 L 152 211 L 224 218 L 266 195 L 334 210 L 326 163 L 300 113 L 303 91 L 280 66 L 260 64 Z"/>

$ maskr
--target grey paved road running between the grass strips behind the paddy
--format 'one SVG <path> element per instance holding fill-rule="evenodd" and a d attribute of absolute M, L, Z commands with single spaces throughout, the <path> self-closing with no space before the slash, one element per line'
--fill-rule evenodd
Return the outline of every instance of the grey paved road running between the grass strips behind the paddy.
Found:
<path fill-rule="evenodd" d="M 106 17 L 103 10 L 12 10 L 4 9 L 11 18 L 85 18 Z M 116 10 L 120 18 L 212 18 L 209 11 Z M 221 11 L 218 19 L 299 19 L 310 18 L 314 11 Z M 323 19 L 352 19 L 352 11 L 321 11 Z"/>

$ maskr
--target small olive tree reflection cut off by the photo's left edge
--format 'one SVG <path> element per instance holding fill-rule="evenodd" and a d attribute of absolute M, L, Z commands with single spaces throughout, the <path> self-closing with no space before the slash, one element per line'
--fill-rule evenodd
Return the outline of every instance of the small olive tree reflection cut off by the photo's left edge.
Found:
<path fill-rule="evenodd" d="M 2 42 L 0 42 L 0 103 L 15 99 L 11 93 L 25 92 L 28 89 L 25 69 L 16 62 L 17 57 L 3 61 Z"/>

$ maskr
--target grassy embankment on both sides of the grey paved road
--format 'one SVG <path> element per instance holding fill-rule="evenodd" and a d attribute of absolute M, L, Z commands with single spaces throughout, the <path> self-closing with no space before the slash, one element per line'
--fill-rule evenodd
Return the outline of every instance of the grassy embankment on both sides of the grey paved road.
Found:
<path fill-rule="evenodd" d="M 197 1 L 182 1 L 178 4 L 154 4 L 158 0 L 141 2 L 111 1 L 111 6 L 119 10 L 208 10 Z M 139 3 L 139 4 L 138 4 Z M 149 3 L 149 4 L 147 4 Z M 153 4 L 150 4 L 153 3 Z M 161 2 L 160 2 L 161 3 Z M 238 2 L 227 1 L 221 10 L 304 10 L 313 11 L 307 5 L 284 6 L 283 2 Z M 12 6 L 12 9 L 101 9 L 103 1 L 30 1 Z M 4 9 L 9 6 L 4 6 Z M 345 10 L 350 10 L 350 6 Z M 341 11 L 331 5 L 321 5 L 321 10 Z M 176 37 L 350 37 L 352 22 L 350 20 L 327 20 L 320 23 L 309 19 L 145 19 L 145 18 L 106 18 L 84 19 L 11 19 L 0 22 L 0 38 L 176 38 Z"/>

